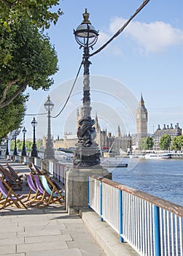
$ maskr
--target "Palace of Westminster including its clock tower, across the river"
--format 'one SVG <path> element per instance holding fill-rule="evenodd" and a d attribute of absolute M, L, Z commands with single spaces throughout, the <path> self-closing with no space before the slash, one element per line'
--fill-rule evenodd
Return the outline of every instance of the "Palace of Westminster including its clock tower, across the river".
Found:
<path fill-rule="evenodd" d="M 77 127 L 78 121 L 82 118 L 82 110 L 77 109 Z M 139 102 L 139 107 L 136 110 L 136 135 L 131 135 L 130 132 L 127 134 L 122 134 L 120 125 L 117 127 L 116 135 L 112 135 L 112 132 L 108 132 L 107 129 L 101 129 L 98 123 L 98 116 L 96 113 L 95 117 L 96 123 L 94 127 L 96 128 L 96 143 L 101 149 L 112 148 L 114 151 L 125 151 L 131 152 L 132 146 L 136 145 L 138 147 L 139 140 L 141 138 L 147 137 L 147 109 L 144 105 L 144 99 L 141 95 L 141 100 Z M 64 134 L 63 140 L 55 140 L 54 148 L 73 148 L 78 141 L 77 135 L 73 135 L 70 132 Z M 44 143 L 43 143 L 44 144 Z"/>

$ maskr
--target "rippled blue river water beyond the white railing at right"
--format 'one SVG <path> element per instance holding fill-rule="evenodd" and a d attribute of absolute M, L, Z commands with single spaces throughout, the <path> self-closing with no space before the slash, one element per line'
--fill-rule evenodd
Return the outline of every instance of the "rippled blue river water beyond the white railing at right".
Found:
<path fill-rule="evenodd" d="M 123 159 L 112 180 L 183 206 L 183 159 Z"/>

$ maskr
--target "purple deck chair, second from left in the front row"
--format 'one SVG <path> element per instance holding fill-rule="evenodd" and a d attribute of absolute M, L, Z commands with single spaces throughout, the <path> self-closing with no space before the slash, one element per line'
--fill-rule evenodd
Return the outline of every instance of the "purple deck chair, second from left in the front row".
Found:
<path fill-rule="evenodd" d="M 36 185 L 34 184 L 34 179 L 31 174 L 25 174 L 27 182 L 28 182 L 28 187 L 30 188 L 30 191 L 28 193 L 27 203 L 28 206 L 34 206 L 36 203 L 36 206 L 39 206 L 44 203 L 45 200 L 45 191 L 44 189 L 38 189 Z M 34 192 L 34 194 L 33 194 Z"/>

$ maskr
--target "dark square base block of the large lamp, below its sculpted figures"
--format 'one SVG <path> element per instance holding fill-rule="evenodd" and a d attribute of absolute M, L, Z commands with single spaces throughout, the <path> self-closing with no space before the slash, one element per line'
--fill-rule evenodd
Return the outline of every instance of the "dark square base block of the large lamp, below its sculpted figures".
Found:
<path fill-rule="evenodd" d="M 95 145 L 90 147 L 78 146 L 74 149 L 73 165 L 77 168 L 99 167 L 101 153 Z"/>

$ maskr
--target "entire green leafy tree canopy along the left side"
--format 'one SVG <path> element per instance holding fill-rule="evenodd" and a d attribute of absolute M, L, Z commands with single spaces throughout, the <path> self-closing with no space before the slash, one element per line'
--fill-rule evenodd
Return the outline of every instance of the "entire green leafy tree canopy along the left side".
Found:
<path fill-rule="evenodd" d="M 56 0 L 0 0 L 0 138 L 17 129 L 26 111 L 26 87 L 47 90 L 58 71 L 50 38 L 56 23 Z M 54 8 L 52 8 L 54 7 Z"/>

